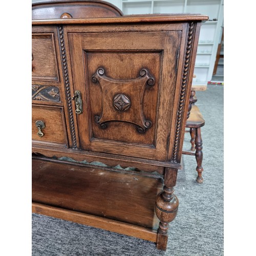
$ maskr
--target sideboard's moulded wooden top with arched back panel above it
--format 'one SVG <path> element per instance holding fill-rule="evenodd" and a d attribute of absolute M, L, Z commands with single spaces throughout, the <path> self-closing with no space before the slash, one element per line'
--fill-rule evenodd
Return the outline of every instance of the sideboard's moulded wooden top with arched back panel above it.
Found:
<path fill-rule="evenodd" d="M 207 15 L 173 13 L 123 15 L 100 0 L 42 0 L 32 4 L 32 25 L 205 21 Z"/>

